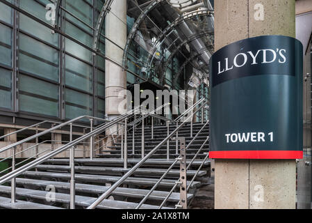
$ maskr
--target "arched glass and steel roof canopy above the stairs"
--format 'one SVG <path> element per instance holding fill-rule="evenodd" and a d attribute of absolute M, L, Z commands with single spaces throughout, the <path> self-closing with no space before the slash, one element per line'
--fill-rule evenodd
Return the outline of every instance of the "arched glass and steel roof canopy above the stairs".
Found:
<path fill-rule="evenodd" d="M 191 10 L 175 8 L 166 0 L 151 1 L 146 8 L 134 5 L 140 15 L 132 15 L 136 22 L 124 49 L 124 66 L 174 89 L 184 89 L 181 77 L 185 83 L 195 70 L 200 80 L 208 77 L 213 10 L 204 0 L 191 6 Z"/>

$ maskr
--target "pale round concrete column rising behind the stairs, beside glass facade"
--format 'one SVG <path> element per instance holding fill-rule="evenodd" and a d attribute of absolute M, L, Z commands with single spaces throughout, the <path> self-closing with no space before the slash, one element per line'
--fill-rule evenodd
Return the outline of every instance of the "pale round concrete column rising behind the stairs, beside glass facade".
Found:
<path fill-rule="evenodd" d="M 113 1 L 110 13 L 106 15 L 105 35 L 108 39 L 124 48 L 126 44 L 126 1 Z M 123 50 L 106 40 L 105 54 L 122 65 Z M 123 99 L 118 98 L 120 91 L 126 89 L 126 72 L 110 61 L 106 68 L 106 115 L 113 119 L 120 115 L 118 106 Z"/>

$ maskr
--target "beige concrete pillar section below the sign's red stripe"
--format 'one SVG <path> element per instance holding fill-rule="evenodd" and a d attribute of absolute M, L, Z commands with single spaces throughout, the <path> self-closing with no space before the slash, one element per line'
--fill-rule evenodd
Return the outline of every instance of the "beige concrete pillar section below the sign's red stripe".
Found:
<path fill-rule="evenodd" d="M 216 209 L 295 209 L 295 160 L 215 160 Z"/>

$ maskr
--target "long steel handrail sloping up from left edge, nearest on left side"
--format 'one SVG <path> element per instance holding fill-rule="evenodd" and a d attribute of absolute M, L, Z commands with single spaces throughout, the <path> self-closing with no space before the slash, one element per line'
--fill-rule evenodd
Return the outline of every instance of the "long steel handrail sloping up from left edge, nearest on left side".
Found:
<path fill-rule="evenodd" d="M 8 180 L 11 180 L 11 179 L 19 176 L 20 174 L 23 174 L 25 171 L 28 171 L 29 169 L 33 169 L 38 164 L 42 164 L 42 162 L 46 162 L 51 157 L 54 157 L 60 153 L 63 153 L 63 151 L 67 151 L 67 149 L 69 149 L 69 148 L 73 148 L 74 146 L 81 143 L 82 141 L 85 141 L 85 139 L 88 139 L 90 137 L 94 137 L 96 134 L 99 134 L 100 132 L 104 132 L 104 130 L 111 128 L 113 125 L 115 125 L 115 124 L 119 123 L 120 121 L 124 120 L 125 118 L 131 116 L 131 112 L 126 112 L 126 114 L 122 114 L 118 118 L 115 118 L 115 120 L 110 121 L 109 123 L 104 125 L 102 128 L 97 128 L 97 129 L 93 130 L 92 132 L 89 132 L 88 134 L 85 134 L 82 137 L 79 137 L 79 139 L 75 139 L 73 141 L 70 141 L 69 144 L 61 146 L 60 148 L 52 151 L 51 153 L 44 155 L 44 156 L 38 158 L 37 160 L 34 160 L 33 162 L 29 162 L 28 164 L 25 164 L 23 167 L 20 167 L 19 169 L 15 169 L 14 171 L 10 172 L 9 174 L 6 174 L 5 176 L 2 176 L 0 178 L 0 185 L 2 185 L 3 183 L 6 183 Z M 90 116 L 81 116 L 81 117 L 90 117 Z M 81 117 L 74 118 L 74 121 L 81 119 Z M 67 122 L 67 123 L 72 123 L 72 121 Z M 63 124 L 63 125 L 65 125 L 65 124 Z M 53 129 L 55 129 L 55 128 L 53 128 Z M 13 146 L 13 147 L 15 147 L 15 146 Z M 8 150 L 8 148 L 6 148 L 6 150 Z"/>

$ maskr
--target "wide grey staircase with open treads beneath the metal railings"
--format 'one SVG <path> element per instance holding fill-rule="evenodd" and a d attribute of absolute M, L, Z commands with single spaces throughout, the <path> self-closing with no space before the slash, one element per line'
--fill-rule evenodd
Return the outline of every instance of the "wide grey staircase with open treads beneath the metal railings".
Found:
<path fill-rule="evenodd" d="M 145 155 L 168 137 L 167 130 L 165 125 L 144 127 Z M 170 132 L 176 130 L 176 125 L 169 125 L 169 130 Z M 111 185 L 114 185 L 140 162 L 142 126 L 136 127 L 134 131 L 133 134 L 133 129 L 129 130 L 126 135 L 128 151 L 126 168 L 122 159 L 124 141 L 121 141 L 120 137 L 112 146 L 108 146 L 101 153 L 99 151 L 95 153 L 93 159 L 74 159 L 74 169 L 70 164 L 71 159 L 50 158 L 33 165 L 33 168 L 27 171 L 22 171 L 16 178 L 13 178 L 13 181 L 7 180 L 6 184 L 0 185 L 0 208 L 58 209 L 72 206 L 76 209 L 88 208 L 97 201 L 101 194 L 107 192 Z M 186 149 L 186 165 L 189 165 L 186 171 L 188 206 L 194 199 L 198 188 L 202 186 L 202 180 L 208 178 L 210 174 L 210 161 L 207 159 L 208 133 L 207 123 L 205 125 L 192 123 L 192 137 L 190 123 L 183 125 L 178 132 L 179 137 L 185 137 L 186 146 L 188 146 Z M 177 182 L 181 177 L 181 171 L 180 162 L 177 162 L 176 158 L 181 155 L 180 144 L 178 147 L 176 145 L 176 140 L 170 140 L 169 160 L 167 159 L 167 143 L 158 148 L 140 168 L 135 169 L 133 174 L 116 187 L 96 208 L 134 209 L 138 208 L 142 199 L 145 199 L 140 203 L 142 209 L 158 209 L 160 206 L 178 208 L 179 205 L 176 205 L 181 201 L 181 193 Z M 177 148 L 178 154 L 176 154 Z M 72 173 L 74 173 L 75 181 L 73 181 Z M 163 179 L 160 180 L 160 178 Z M 12 183 L 16 184 L 15 192 L 15 187 L 11 187 Z M 151 190 L 155 185 L 157 187 Z M 74 199 L 71 190 L 74 190 Z M 15 203 L 11 202 L 12 192 L 15 194 Z M 74 203 L 71 204 L 71 201 Z"/>

